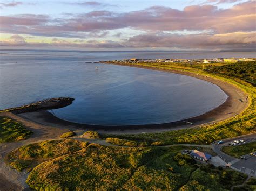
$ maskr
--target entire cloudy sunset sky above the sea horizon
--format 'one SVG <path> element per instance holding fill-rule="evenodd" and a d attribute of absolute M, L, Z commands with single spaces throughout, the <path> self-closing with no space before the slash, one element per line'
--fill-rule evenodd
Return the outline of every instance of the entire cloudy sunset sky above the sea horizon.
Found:
<path fill-rule="evenodd" d="M 255 14 L 255 0 L 0 0 L 0 49 L 255 50 Z"/>

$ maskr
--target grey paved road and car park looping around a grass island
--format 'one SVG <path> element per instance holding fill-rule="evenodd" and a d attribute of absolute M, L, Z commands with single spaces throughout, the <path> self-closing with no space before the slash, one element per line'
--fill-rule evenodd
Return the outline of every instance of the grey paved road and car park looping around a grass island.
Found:
<path fill-rule="evenodd" d="M 230 164 L 233 168 L 237 169 L 240 172 L 246 173 L 248 175 L 252 175 L 256 177 L 256 157 L 246 154 L 243 157 L 245 159 L 238 159 L 235 157 L 231 157 L 228 154 L 225 154 L 221 151 L 221 147 L 223 146 L 229 146 L 228 143 L 234 142 L 234 140 L 245 140 L 246 143 L 255 142 L 256 141 L 256 133 L 252 133 L 249 135 L 239 136 L 239 137 L 233 137 L 223 140 L 224 143 L 221 145 L 218 145 L 216 143 L 213 145 L 213 151 L 218 154 L 218 156 L 223 159 L 225 162 Z"/>

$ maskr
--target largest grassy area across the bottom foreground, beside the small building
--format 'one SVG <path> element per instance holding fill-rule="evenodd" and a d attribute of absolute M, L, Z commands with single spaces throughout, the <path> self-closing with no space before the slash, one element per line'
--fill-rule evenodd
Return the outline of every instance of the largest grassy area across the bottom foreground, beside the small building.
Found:
<path fill-rule="evenodd" d="M 196 164 L 180 154 L 184 148 L 90 144 L 39 164 L 26 183 L 36 190 L 179 190 L 196 181 L 205 190 L 224 190 L 246 179 L 239 172 Z"/>

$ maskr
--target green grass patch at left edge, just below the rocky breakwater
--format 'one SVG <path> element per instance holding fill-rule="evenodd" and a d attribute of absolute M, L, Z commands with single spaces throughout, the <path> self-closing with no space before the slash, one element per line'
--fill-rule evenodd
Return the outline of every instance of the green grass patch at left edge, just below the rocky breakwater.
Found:
<path fill-rule="evenodd" d="M 0 117 L 0 143 L 25 140 L 33 134 L 24 125 L 9 117 Z"/>

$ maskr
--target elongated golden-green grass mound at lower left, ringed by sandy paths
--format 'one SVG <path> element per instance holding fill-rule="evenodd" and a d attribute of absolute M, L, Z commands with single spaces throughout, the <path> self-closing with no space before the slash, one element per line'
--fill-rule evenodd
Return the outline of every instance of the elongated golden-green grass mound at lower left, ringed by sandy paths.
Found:
<path fill-rule="evenodd" d="M 86 145 L 86 142 L 73 139 L 44 141 L 22 146 L 10 152 L 5 160 L 17 171 L 23 171 L 23 169 L 30 171 L 41 162 L 76 152 Z"/>

